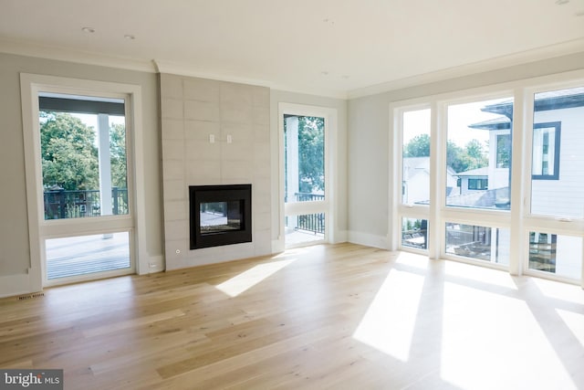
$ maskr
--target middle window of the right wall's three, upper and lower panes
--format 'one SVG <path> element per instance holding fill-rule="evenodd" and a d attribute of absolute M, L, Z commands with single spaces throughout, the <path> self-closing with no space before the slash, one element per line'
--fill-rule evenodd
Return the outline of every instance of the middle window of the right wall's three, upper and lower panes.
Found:
<path fill-rule="evenodd" d="M 443 256 L 508 269 L 512 96 L 445 105 Z"/>

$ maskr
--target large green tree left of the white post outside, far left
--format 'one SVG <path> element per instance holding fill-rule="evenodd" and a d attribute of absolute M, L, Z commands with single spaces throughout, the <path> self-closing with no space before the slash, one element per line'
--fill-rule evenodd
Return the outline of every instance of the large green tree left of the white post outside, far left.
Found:
<path fill-rule="evenodd" d="M 65 112 L 41 112 L 43 185 L 66 190 L 98 189 L 95 131 Z"/>

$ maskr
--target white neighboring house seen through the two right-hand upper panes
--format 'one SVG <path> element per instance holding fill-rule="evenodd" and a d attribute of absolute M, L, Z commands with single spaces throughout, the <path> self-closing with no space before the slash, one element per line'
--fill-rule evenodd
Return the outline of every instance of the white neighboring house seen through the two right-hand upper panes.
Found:
<path fill-rule="evenodd" d="M 534 106 L 531 212 L 582 217 L 584 210 L 571 204 L 575 197 L 584 196 L 584 182 L 575 179 L 584 172 L 584 154 L 578 147 L 584 142 L 584 123 L 579 121 L 584 115 L 584 88 L 570 90 L 570 94 L 538 93 Z M 508 202 L 513 100 L 485 106 L 482 111 L 501 114 L 468 126 L 490 132 L 489 165 L 455 174 L 460 178 L 461 194 L 459 198 L 449 196 L 449 206 L 495 208 Z M 555 195 L 548 195 L 552 193 Z"/>

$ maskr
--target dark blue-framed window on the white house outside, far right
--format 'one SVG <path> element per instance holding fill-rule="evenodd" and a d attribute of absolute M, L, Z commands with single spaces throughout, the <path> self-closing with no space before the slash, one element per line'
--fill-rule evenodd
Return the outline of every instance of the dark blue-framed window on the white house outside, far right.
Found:
<path fill-rule="evenodd" d="M 560 122 L 537 123 L 533 129 L 533 179 L 559 179 Z"/>

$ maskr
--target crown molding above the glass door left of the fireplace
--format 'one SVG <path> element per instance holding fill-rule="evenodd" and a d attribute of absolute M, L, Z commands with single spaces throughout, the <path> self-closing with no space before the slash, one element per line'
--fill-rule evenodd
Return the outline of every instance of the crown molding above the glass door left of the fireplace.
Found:
<path fill-rule="evenodd" d="M 71 50 L 66 47 L 39 45 L 32 42 L 14 41 L 0 38 L 0 52 L 19 56 L 55 59 L 58 61 L 75 62 L 79 64 L 95 65 L 108 68 L 136 70 L 155 73 L 156 69 L 151 60 L 126 58 Z"/>

